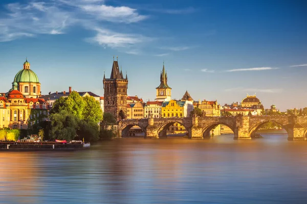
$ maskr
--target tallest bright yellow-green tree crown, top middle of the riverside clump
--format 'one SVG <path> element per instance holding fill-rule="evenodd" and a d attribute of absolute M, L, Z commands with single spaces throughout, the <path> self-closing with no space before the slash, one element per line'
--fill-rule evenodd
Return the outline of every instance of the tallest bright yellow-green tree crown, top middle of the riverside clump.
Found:
<path fill-rule="evenodd" d="M 65 101 L 64 108 L 79 119 L 84 119 L 85 101 L 77 91 L 72 91 Z"/>

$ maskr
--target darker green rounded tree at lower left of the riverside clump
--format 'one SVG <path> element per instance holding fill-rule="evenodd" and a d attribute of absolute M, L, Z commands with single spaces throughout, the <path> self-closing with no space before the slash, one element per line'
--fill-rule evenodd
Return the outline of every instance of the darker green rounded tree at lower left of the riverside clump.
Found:
<path fill-rule="evenodd" d="M 54 113 L 50 117 L 50 137 L 53 139 L 71 141 L 76 137 L 79 119 L 66 110 Z"/>

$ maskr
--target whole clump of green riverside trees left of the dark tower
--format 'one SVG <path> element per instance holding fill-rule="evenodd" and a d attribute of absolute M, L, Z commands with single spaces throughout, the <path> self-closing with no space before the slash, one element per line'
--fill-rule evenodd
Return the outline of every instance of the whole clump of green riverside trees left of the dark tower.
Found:
<path fill-rule="evenodd" d="M 73 91 L 67 98 L 56 100 L 51 113 L 51 138 L 72 140 L 77 136 L 86 141 L 99 139 L 98 123 L 102 120 L 102 110 L 93 96 L 82 97 Z"/>

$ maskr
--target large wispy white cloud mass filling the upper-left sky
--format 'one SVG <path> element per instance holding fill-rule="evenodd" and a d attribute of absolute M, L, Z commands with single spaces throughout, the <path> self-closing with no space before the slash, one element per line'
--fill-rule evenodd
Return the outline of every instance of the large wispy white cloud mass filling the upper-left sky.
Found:
<path fill-rule="evenodd" d="M 111 48 L 126 47 L 129 49 L 123 52 L 138 53 L 136 47 L 131 49 L 131 46 L 151 38 L 105 29 L 103 21 L 131 23 L 143 20 L 146 16 L 139 15 L 136 9 L 107 6 L 103 3 L 102 0 L 53 0 L 8 4 L 7 17 L 0 18 L 0 42 L 39 34 L 64 34 L 69 28 L 81 25 L 96 32 L 87 41 Z"/>

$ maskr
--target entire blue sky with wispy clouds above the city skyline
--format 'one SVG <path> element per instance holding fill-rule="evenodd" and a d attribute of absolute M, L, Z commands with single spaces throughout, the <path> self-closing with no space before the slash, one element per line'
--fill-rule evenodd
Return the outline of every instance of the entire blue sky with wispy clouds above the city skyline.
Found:
<path fill-rule="evenodd" d="M 113 56 L 128 94 L 156 97 L 163 61 L 172 98 L 224 105 L 246 93 L 269 108 L 307 106 L 307 2 L 50 0 L 0 3 L 1 90 L 28 57 L 49 91 L 103 95 Z"/>

